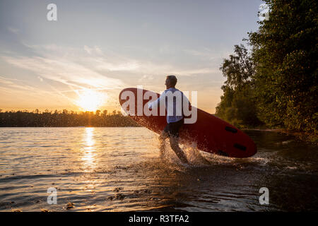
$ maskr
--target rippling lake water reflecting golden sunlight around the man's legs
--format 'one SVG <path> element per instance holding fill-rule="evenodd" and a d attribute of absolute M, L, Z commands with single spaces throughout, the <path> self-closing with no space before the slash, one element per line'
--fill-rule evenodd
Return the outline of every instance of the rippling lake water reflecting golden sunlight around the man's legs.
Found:
<path fill-rule="evenodd" d="M 158 135 L 144 128 L 1 128 L 0 210 L 317 211 L 317 146 L 245 132 L 257 155 L 231 159 L 186 145 L 188 166 L 168 145 L 159 157 Z M 269 205 L 259 203 L 261 187 Z M 49 188 L 57 204 L 47 203 Z"/>

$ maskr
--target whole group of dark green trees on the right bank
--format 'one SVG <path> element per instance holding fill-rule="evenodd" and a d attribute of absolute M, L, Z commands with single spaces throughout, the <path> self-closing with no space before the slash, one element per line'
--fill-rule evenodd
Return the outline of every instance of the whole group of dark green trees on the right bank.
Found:
<path fill-rule="evenodd" d="M 302 131 L 317 138 L 318 13 L 314 0 L 266 0 L 269 20 L 223 59 L 216 115 L 238 127 Z"/>

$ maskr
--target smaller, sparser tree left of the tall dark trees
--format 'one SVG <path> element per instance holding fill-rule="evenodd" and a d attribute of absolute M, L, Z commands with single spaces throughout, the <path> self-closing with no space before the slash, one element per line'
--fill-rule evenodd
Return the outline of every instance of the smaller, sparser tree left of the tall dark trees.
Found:
<path fill-rule="evenodd" d="M 223 96 L 216 107 L 216 115 L 238 127 L 258 126 L 254 98 L 254 64 L 247 49 L 235 45 L 235 54 L 224 59 L 220 70 L 227 78 L 222 86 Z"/>

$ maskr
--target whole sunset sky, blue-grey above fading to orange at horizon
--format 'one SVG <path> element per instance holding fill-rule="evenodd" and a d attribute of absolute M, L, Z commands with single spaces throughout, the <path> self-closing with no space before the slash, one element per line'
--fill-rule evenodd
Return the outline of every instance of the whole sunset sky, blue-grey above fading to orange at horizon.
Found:
<path fill-rule="evenodd" d="M 160 93 L 174 74 L 213 114 L 220 65 L 257 31 L 261 3 L 0 0 L 0 109 L 119 110 L 123 88 Z M 48 4 L 56 21 L 47 20 Z"/>

